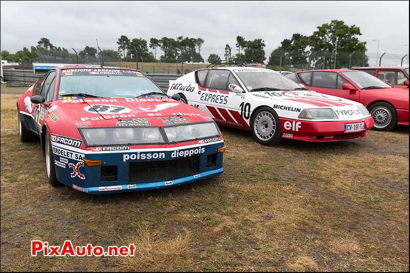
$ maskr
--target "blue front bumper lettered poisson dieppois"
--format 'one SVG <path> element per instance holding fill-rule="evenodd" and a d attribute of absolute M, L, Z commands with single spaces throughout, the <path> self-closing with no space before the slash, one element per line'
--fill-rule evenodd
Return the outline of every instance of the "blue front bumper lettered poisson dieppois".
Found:
<path fill-rule="evenodd" d="M 64 148 L 63 148 L 64 147 Z M 53 145 L 58 181 L 88 194 L 147 191 L 195 182 L 223 172 L 223 142 L 166 149 L 81 154 Z M 84 152 L 84 151 L 83 151 Z M 101 160 L 87 166 L 84 160 Z"/>

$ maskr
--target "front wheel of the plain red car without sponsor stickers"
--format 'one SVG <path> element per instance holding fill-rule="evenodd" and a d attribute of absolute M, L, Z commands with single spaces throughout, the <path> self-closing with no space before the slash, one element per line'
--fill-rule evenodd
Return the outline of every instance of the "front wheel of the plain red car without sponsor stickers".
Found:
<path fill-rule="evenodd" d="M 375 121 L 373 129 L 376 131 L 391 131 L 397 125 L 396 109 L 388 102 L 376 102 L 368 108 L 368 112 Z"/>

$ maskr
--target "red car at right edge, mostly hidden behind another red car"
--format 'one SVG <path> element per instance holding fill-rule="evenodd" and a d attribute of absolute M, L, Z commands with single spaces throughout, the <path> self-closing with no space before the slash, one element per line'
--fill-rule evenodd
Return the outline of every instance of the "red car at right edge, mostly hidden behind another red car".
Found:
<path fill-rule="evenodd" d="M 357 67 L 352 69 L 367 72 L 394 87 L 408 90 L 408 67 Z"/>

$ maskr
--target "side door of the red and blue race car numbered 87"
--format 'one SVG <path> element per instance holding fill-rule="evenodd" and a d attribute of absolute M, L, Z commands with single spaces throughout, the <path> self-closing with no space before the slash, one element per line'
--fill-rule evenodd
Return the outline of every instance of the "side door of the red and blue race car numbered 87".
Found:
<path fill-rule="evenodd" d="M 56 72 L 50 71 L 41 87 L 40 96 L 45 98 L 45 103 L 50 103 L 53 101 L 54 98 L 54 87 L 55 87 L 55 80 L 56 80 Z M 37 104 L 34 109 L 34 121 L 38 126 L 38 131 L 41 132 L 41 128 L 44 123 L 44 118 L 47 114 L 48 107 L 45 104 Z"/>

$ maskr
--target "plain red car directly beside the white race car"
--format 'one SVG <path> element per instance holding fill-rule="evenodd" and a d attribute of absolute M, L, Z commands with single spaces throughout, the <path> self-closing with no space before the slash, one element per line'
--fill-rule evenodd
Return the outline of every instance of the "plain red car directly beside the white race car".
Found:
<path fill-rule="evenodd" d="M 358 70 L 328 69 L 286 75 L 307 89 L 358 101 L 367 107 L 378 131 L 397 124 L 408 125 L 408 90 L 392 88 L 384 81 Z"/>

